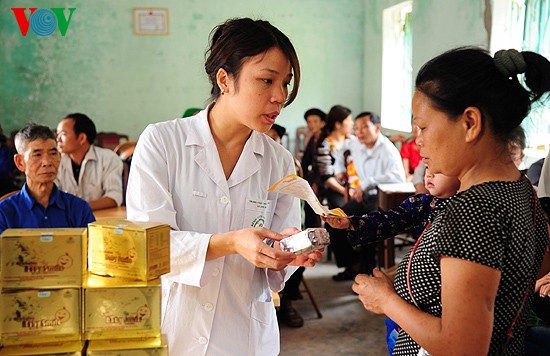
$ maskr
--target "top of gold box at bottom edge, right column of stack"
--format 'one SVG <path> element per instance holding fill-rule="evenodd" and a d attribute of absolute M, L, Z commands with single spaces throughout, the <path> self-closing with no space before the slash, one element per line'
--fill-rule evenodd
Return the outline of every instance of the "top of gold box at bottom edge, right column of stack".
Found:
<path fill-rule="evenodd" d="M 92 340 L 88 344 L 88 356 L 168 356 L 166 336 L 139 339 Z"/>

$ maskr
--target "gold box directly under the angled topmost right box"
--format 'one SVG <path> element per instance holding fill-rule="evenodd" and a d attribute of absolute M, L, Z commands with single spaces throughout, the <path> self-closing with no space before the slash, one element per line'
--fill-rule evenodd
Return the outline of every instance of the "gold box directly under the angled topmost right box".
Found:
<path fill-rule="evenodd" d="M 160 336 L 160 279 L 135 281 L 89 275 L 83 288 L 86 339 Z"/>

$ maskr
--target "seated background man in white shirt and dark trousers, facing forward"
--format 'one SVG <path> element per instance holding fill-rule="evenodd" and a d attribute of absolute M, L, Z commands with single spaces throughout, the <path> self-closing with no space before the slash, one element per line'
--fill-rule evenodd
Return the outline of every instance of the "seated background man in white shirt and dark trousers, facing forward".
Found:
<path fill-rule="evenodd" d="M 350 140 L 349 150 L 361 186 L 360 189 L 350 190 L 350 201 L 342 209 L 348 215 L 363 215 L 378 209 L 378 184 L 404 183 L 406 178 L 399 151 L 380 133 L 380 117 L 377 114 L 362 112 L 357 115 L 355 136 L 356 139 Z M 346 166 L 344 157 L 336 157 L 337 173 L 345 172 Z M 358 253 L 345 235 L 344 230 L 330 231 L 335 259 L 337 263 L 340 261 L 339 266 L 346 266 L 343 272 L 333 276 L 335 281 L 353 280 L 357 273 L 370 273 L 375 267 L 376 246 L 364 246 Z"/>

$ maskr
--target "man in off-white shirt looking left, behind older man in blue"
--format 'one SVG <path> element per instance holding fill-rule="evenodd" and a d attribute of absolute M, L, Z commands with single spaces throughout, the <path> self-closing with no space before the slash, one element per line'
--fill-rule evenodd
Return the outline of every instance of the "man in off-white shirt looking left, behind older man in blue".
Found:
<path fill-rule="evenodd" d="M 86 115 L 67 115 L 57 125 L 62 153 L 56 184 L 86 200 L 92 210 L 122 203 L 122 161 L 111 150 L 94 146 L 96 128 Z"/>

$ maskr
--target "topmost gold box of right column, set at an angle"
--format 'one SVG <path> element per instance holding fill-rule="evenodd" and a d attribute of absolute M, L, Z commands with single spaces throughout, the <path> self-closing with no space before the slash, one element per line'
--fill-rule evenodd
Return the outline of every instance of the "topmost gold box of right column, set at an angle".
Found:
<path fill-rule="evenodd" d="M 91 273 L 147 281 L 170 272 L 170 226 L 126 219 L 88 225 Z"/>

